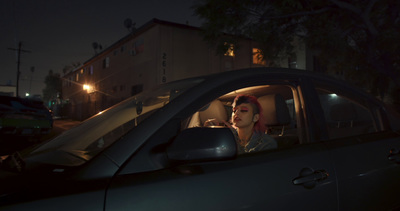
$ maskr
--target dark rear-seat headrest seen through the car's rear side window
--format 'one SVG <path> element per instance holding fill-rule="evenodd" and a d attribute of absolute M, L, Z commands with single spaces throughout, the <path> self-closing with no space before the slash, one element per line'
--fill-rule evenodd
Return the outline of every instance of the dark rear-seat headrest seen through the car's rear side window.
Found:
<path fill-rule="evenodd" d="M 331 107 L 330 117 L 334 121 L 351 121 L 357 118 L 357 112 L 351 103 L 339 103 Z"/>

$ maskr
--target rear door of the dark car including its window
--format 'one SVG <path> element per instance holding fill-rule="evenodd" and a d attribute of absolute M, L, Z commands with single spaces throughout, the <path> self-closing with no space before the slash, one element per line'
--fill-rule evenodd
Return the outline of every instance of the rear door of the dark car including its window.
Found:
<path fill-rule="evenodd" d="M 369 98 L 316 84 L 338 178 L 339 210 L 400 208 L 400 135 Z"/>

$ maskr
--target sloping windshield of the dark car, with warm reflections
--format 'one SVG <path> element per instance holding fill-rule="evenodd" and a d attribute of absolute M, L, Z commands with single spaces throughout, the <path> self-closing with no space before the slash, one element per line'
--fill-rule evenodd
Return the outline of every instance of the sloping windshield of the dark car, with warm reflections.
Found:
<path fill-rule="evenodd" d="M 40 156 L 43 158 L 39 159 L 40 162 L 44 163 L 66 166 L 83 164 L 135 128 L 154 111 L 201 81 L 177 81 L 133 96 L 41 145 L 30 155 L 47 154 Z"/>

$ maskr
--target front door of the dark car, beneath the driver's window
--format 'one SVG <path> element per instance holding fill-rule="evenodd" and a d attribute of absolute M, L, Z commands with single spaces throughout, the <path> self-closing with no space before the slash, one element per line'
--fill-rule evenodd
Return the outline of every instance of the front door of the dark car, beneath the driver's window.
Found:
<path fill-rule="evenodd" d="M 304 108 L 299 102 L 295 106 Z M 181 117 L 191 112 L 168 121 L 124 165 L 108 188 L 105 210 L 337 210 L 336 175 L 324 143 L 305 140 L 230 160 L 166 164 L 167 142 L 179 137 Z"/>

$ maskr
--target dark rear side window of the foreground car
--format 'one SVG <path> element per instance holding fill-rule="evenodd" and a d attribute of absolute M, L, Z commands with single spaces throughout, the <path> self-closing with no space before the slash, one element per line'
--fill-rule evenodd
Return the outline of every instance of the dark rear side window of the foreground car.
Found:
<path fill-rule="evenodd" d="M 372 112 L 350 96 L 317 89 L 330 139 L 376 132 Z"/>

